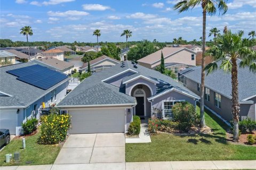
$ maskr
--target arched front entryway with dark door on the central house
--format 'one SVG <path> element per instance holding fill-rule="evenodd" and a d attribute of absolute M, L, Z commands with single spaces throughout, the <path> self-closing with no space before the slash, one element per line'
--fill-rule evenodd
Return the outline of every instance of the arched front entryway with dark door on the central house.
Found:
<path fill-rule="evenodd" d="M 137 105 L 133 108 L 133 114 L 146 117 L 151 115 L 151 104 L 147 100 L 151 96 L 151 89 L 145 84 L 137 84 L 131 90 L 131 96 L 137 100 Z"/>

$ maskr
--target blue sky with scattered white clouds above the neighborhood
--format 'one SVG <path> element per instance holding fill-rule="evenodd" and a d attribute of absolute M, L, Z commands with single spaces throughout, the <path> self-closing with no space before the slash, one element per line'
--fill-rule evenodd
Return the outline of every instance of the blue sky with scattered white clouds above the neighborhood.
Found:
<path fill-rule="evenodd" d="M 100 41 L 125 41 L 125 29 L 133 32 L 130 40 L 173 38 L 193 40 L 202 36 L 202 8 L 178 13 L 173 5 L 179 2 L 138 0 L 5 0 L 1 1 L 0 38 L 25 41 L 19 34 L 25 25 L 34 35 L 29 41 L 96 41 L 95 29 L 101 30 Z M 221 31 L 225 25 L 245 34 L 256 29 L 256 0 L 229 0 L 223 15 L 207 16 L 206 34 L 213 27 Z M 210 38 L 207 38 L 208 40 Z"/>

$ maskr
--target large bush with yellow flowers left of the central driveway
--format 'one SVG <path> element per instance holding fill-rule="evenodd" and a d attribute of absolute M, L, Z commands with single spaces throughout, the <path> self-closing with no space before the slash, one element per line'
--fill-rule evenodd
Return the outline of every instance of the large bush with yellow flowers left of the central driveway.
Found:
<path fill-rule="evenodd" d="M 50 114 L 41 117 L 41 135 L 38 142 L 41 144 L 55 144 L 66 139 L 70 127 L 70 115 Z"/>

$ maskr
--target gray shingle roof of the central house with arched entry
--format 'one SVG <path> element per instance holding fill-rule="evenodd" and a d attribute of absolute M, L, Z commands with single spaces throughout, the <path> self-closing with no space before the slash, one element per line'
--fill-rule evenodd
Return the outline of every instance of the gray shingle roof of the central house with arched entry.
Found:
<path fill-rule="evenodd" d="M 137 65 L 137 68 L 133 67 L 130 61 L 125 61 L 125 66 L 121 67 L 122 63 L 111 67 L 108 70 L 97 72 L 91 77 L 82 81 L 73 91 L 71 91 L 64 99 L 60 101 L 57 107 L 65 106 L 87 106 L 87 105 L 115 105 L 115 104 L 132 104 L 135 103 L 135 98 L 129 95 L 123 94 L 121 88 L 102 82 L 109 77 L 118 73 L 124 72 L 127 69 L 134 70 L 138 73 L 130 75 L 131 77 L 124 78 L 129 80 L 136 75 L 144 75 L 146 77 L 160 79 L 172 87 L 186 91 L 195 98 L 199 98 L 196 94 L 183 87 L 182 84 L 176 82 L 170 77 L 163 75 L 157 71 L 148 69 L 141 65 Z M 124 81 L 123 79 L 123 81 Z M 163 84 L 162 84 L 163 85 Z M 166 86 L 159 86 L 158 94 L 167 90 Z M 162 89 L 162 90 L 159 90 Z"/>

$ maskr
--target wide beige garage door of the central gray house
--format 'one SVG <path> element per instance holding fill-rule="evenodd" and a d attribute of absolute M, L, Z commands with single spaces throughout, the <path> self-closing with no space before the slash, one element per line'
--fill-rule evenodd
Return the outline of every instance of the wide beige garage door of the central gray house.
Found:
<path fill-rule="evenodd" d="M 70 134 L 124 132 L 124 109 L 69 111 Z"/>

